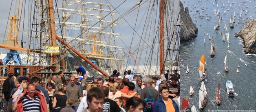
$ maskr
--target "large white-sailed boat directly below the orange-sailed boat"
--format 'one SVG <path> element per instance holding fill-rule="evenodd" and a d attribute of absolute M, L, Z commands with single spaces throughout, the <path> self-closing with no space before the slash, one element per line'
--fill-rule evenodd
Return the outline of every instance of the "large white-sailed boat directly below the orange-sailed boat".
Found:
<path fill-rule="evenodd" d="M 207 92 L 205 88 L 205 83 L 202 81 L 201 87 L 199 89 L 199 109 L 205 107 L 207 102 Z"/>

